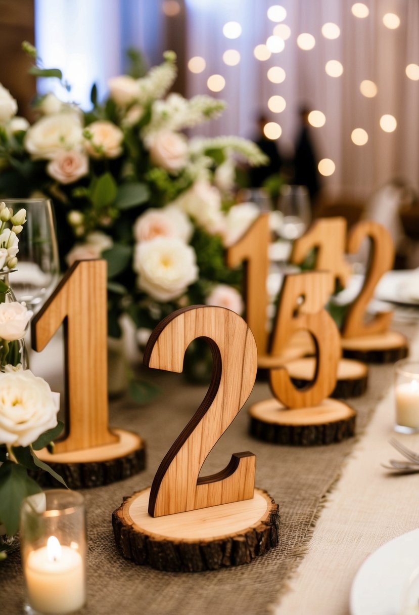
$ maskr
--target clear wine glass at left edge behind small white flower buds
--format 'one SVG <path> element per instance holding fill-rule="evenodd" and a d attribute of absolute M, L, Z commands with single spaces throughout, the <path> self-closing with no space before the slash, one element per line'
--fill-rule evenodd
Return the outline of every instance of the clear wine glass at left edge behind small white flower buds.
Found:
<path fill-rule="evenodd" d="M 10 279 L 18 301 L 36 311 L 57 284 L 57 232 L 50 199 L 3 199 L 14 213 L 26 209 L 26 223 L 19 234 L 17 271 Z"/>

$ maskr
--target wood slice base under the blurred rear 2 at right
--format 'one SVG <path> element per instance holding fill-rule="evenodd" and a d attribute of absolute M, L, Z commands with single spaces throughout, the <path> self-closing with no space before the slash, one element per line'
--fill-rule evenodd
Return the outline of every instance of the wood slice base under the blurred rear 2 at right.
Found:
<path fill-rule="evenodd" d="M 343 356 L 366 363 L 394 363 L 409 354 L 407 339 L 397 331 L 342 338 Z"/>

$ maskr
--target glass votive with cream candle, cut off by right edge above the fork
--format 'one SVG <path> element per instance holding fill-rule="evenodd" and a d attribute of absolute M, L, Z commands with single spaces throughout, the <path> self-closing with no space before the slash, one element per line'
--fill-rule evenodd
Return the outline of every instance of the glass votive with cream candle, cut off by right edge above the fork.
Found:
<path fill-rule="evenodd" d="M 394 364 L 396 426 L 402 434 L 419 432 L 419 361 L 402 359 Z"/>

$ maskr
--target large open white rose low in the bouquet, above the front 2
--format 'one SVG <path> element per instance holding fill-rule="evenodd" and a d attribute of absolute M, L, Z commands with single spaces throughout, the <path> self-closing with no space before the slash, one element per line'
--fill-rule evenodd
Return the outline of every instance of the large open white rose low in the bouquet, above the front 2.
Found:
<path fill-rule="evenodd" d="M 175 299 L 198 279 L 193 248 L 173 237 L 136 244 L 134 269 L 139 288 L 157 301 Z"/>

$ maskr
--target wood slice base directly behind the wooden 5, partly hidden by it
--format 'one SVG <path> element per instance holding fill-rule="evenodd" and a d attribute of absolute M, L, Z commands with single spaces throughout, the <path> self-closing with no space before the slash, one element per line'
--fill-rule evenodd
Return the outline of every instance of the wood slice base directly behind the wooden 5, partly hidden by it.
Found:
<path fill-rule="evenodd" d="M 316 369 L 315 357 L 288 361 L 286 367 L 292 382 L 299 388 L 313 381 Z M 337 367 L 337 381 L 331 397 L 348 399 L 359 397 L 367 390 L 368 368 L 365 363 L 351 359 L 340 359 Z"/>

